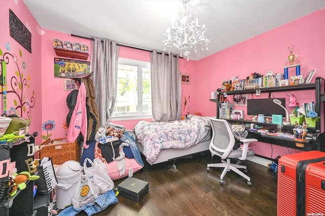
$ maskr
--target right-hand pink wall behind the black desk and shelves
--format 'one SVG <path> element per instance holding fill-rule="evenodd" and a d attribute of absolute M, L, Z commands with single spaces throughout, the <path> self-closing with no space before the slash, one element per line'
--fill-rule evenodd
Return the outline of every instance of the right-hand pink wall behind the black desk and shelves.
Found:
<path fill-rule="evenodd" d="M 265 75 L 269 70 L 274 73 L 283 73 L 286 56 L 289 55 L 287 47 L 293 45 L 295 45 L 293 53 L 297 54 L 297 59 L 300 60 L 302 75 L 317 68 L 313 83 L 316 77 L 325 76 L 324 39 L 325 9 L 322 9 L 201 59 L 196 63 L 196 73 L 201 74 L 197 77 L 197 89 L 200 91 L 197 91 L 193 100 L 198 104 L 204 104 L 201 105 L 201 112 L 204 116 L 215 116 L 216 103 L 209 101 L 210 92 L 220 88 L 222 80 L 229 80 L 232 76 L 244 79 L 254 72 Z M 293 70 L 289 70 L 289 76 L 295 74 L 295 69 L 291 69 Z M 273 95 L 274 97 L 286 97 L 286 101 L 289 98 L 284 92 L 273 93 Z M 315 93 L 312 90 L 299 91 L 295 95 L 300 104 L 315 100 Z M 267 93 L 263 93 L 261 96 L 254 95 L 254 98 L 267 97 Z M 229 99 L 233 101 L 232 96 Z M 243 106 L 235 106 L 236 108 L 243 110 Z M 288 106 L 286 108 L 288 112 L 292 111 L 292 108 Z M 245 116 L 245 109 L 244 117 L 251 118 Z M 291 149 L 271 146 L 269 143 L 262 142 L 251 143 L 250 148 L 256 154 L 269 158 L 291 153 Z M 297 150 L 292 152 L 297 152 Z"/>

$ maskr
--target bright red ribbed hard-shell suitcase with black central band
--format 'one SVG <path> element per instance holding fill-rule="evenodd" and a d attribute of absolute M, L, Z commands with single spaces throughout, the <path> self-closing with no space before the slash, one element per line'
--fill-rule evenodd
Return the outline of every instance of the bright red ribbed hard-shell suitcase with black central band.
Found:
<path fill-rule="evenodd" d="M 309 170 L 310 167 L 313 167 L 315 163 L 325 162 L 325 153 L 320 151 L 309 151 L 296 153 L 291 155 L 282 156 L 279 159 L 278 164 L 278 185 L 277 185 L 277 215 L 307 215 L 307 210 L 310 207 L 306 208 L 307 203 L 310 206 L 309 200 L 312 197 L 316 197 L 317 201 L 313 202 L 312 205 L 316 209 L 324 208 L 325 199 L 324 190 L 318 190 L 315 194 L 315 190 L 310 188 L 309 185 L 306 187 L 306 184 L 314 184 L 315 178 L 310 178 Z M 308 169 L 306 169 L 309 167 Z M 315 168 L 313 168 L 315 170 Z M 323 170 L 325 170 L 323 168 Z M 314 171 L 319 174 L 319 171 Z M 307 179 L 306 179 L 306 176 Z M 323 172 L 323 179 L 325 181 Z M 317 183 L 316 183 L 317 184 Z M 317 188 L 321 188 L 321 183 L 318 182 Z M 324 186 L 325 187 L 325 186 Z M 310 190 L 306 189 L 310 188 Z M 316 215 L 321 215 L 317 213 L 322 212 L 313 212 Z"/>

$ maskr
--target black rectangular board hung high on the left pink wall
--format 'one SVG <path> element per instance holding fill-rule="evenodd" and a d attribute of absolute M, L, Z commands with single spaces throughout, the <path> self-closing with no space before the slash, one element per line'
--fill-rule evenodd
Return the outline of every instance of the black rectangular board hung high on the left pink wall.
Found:
<path fill-rule="evenodd" d="M 31 33 L 18 17 L 9 9 L 10 36 L 31 53 Z"/>

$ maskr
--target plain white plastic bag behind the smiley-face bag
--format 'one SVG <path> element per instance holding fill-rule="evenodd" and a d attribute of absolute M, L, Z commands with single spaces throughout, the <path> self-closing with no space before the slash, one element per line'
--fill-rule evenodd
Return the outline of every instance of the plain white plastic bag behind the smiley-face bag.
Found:
<path fill-rule="evenodd" d="M 87 167 L 87 161 L 91 164 L 90 167 Z M 95 158 L 92 162 L 89 158 L 86 158 L 84 160 L 83 167 L 85 175 L 87 175 L 93 185 L 98 188 L 100 194 L 104 194 L 105 192 L 114 188 L 114 182 L 108 175 L 106 165 L 101 159 Z"/>

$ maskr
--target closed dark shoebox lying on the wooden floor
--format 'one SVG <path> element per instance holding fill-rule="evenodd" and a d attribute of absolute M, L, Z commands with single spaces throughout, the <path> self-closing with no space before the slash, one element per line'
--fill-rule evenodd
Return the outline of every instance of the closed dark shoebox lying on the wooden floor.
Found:
<path fill-rule="evenodd" d="M 138 178 L 128 177 L 117 188 L 121 196 L 134 202 L 140 202 L 149 191 L 149 183 Z"/>

